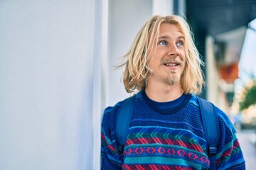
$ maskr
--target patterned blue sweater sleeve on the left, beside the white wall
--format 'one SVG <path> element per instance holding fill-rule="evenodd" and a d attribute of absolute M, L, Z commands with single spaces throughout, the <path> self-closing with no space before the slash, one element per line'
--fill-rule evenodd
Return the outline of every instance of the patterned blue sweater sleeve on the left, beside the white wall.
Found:
<path fill-rule="evenodd" d="M 114 107 L 108 107 L 103 113 L 101 130 L 101 169 L 122 169 L 122 152 L 117 149 L 117 141 L 114 133 L 114 121 L 119 108 L 119 103 Z"/>

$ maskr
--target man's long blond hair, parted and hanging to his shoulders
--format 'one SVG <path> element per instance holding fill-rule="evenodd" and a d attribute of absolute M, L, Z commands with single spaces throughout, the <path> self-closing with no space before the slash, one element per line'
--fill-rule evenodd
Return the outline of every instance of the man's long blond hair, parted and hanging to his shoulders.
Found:
<path fill-rule="evenodd" d="M 180 16 L 152 16 L 139 30 L 131 49 L 124 55 L 123 82 L 127 92 L 140 91 L 146 86 L 148 64 L 156 52 L 161 23 L 171 23 L 181 29 L 185 38 L 186 66 L 181 77 L 181 87 L 185 94 L 199 94 L 203 86 L 201 65 L 203 62 L 193 43 L 193 33 L 188 23 Z"/>

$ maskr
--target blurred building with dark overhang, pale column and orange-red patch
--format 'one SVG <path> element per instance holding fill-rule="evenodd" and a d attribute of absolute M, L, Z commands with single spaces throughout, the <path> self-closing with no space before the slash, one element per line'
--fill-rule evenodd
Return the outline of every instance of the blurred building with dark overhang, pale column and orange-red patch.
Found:
<path fill-rule="evenodd" d="M 247 26 L 256 18 L 256 1 L 187 1 L 187 11 L 206 62 L 203 96 L 228 113 Z"/>

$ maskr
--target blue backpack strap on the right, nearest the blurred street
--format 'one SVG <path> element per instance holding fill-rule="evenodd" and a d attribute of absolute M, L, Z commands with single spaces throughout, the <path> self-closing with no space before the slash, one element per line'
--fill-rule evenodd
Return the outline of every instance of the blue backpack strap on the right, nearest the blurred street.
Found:
<path fill-rule="evenodd" d="M 198 97 L 201 117 L 203 121 L 203 129 L 206 133 L 206 149 L 208 159 L 210 160 L 210 170 L 216 169 L 215 154 L 220 140 L 220 128 L 218 123 L 218 115 L 215 106 L 209 101 Z"/>

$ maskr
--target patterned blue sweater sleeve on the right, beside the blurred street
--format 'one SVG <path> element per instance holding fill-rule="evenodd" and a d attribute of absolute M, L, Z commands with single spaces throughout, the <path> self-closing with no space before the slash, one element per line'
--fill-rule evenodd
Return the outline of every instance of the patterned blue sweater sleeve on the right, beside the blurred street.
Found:
<path fill-rule="evenodd" d="M 216 164 L 218 169 L 245 169 L 245 159 L 238 142 L 237 132 L 228 116 L 216 108 L 220 124 L 220 143 Z"/>

